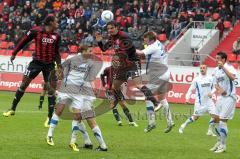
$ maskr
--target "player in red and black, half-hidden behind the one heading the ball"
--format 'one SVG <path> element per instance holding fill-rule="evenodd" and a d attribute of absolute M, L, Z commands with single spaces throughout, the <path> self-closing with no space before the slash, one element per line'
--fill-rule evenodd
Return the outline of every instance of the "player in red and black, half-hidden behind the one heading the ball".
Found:
<path fill-rule="evenodd" d="M 110 66 L 110 67 L 105 68 L 103 73 L 101 74 L 102 86 L 106 88 L 106 96 L 107 97 L 113 96 L 113 94 L 112 94 L 112 91 L 114 91 L 114 90 L 112 90 L 113 72 L 114 72 L 113 67 Z M 122 126 L 122 121 L 120 119 L 120 115 L 117 110 L 117 104 L 119 103 L 123 109 L 124 114 L 128 118 L 129 125 L 138 127 L 138 125 L 133 121 L 132 115 L 126 106 L 124 95 L 122 94 L 121 91 L 118 91 L 117 95 L 118 95 L 117 97 L 114 97 L 114 98 L 116 98 L 116 100 L 114 101 L 114 106 L 113 106 L 112 111 L 113 111 L 113 115 L 114 115 L 115 119 L 118 122 L 118 125 Z"/>

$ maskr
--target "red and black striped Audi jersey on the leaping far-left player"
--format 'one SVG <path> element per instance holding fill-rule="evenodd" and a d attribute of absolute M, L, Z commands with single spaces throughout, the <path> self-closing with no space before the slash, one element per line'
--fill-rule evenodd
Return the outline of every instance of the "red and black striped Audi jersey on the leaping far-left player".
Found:
<path fill-rule="evenodd" d="M 16 45 L 13 55 L 17 55 L 17 53 L 32 40 L 35 40 L 33 60 L 47 64 L 53 63 L 54 61 L 56 61 L 57 64 L 61 63 L 59 54 L 61 37 L 57 33 L 47 32 L 43 27 L 34 27 L 29 30 Z"/>

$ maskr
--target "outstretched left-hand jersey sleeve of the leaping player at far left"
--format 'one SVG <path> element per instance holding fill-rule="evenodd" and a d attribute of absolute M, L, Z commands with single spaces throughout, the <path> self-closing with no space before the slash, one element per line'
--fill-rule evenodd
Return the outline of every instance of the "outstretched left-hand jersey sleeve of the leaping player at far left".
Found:
<path fill-rule="evenodd" d="M 31 29 L 29 30 L 23 37 L 22 39 L 18 42 L 16 47 L 13 50 L 12 55 L 17 55 L 17 53 L 25 46 L 27 45 L 30 41 L 32 41 L 35 37 L 37 36 L 37 30 Z"/>

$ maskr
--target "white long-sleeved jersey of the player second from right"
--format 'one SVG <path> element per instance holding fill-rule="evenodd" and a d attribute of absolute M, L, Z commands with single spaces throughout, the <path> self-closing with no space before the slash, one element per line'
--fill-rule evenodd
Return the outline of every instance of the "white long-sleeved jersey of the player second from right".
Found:
<path fill-rule="evenodd" d="M 190 99 L 190 95 L 195 90 L 195 103 L 202 105 L 202 103 L 205 103 L 207 100 L 209 100 L 208 94 L 211 93 L 212 89 L 212 76 L 199 75 L 194 78 L 190 88 L 188 89 L 186 99 Z"/>

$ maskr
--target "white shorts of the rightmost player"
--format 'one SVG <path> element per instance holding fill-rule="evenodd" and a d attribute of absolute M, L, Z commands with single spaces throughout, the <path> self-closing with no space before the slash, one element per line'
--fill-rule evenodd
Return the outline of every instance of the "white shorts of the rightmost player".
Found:
<path fill-rule="evenodd" d="M 220 119 L 232 119 L 236 107 L 236 99 L 233 97 L 221 96 L 217 99 L 216 109 Z"/>

